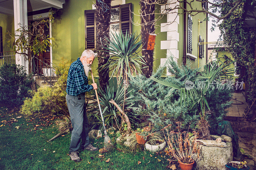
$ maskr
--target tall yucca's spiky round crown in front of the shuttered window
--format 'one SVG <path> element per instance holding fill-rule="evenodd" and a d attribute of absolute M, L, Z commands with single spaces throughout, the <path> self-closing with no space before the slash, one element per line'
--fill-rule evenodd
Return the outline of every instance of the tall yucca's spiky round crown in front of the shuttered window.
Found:
<path fill-rule="evenodd" d="M 109 59 L 106 64 L 100 67 L 101 71 L 112 71 L 110 79 L 116 75 L 118 84 L 121 81 L 121 77 L 124 78 L 124 84 L 128 84 L 128 74 L 137 74 L 141 71 L 141 65 L 144 64 L 143 58 L 138 55 L 139 48 L 141 46 L 141 40 L 139 40 L 140 34 L 128 34 L 112 33 L 110 39 L 107 39 L 107 47 L 103 47 L 109 52 Z M 104 69 L 108 68 L 108 69 Z"/>

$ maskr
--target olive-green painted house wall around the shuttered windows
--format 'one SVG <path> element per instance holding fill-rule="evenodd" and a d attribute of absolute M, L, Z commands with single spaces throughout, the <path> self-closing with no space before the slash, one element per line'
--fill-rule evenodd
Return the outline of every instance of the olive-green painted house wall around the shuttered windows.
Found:
<path fill-rule="evenodd" d="M 132 3 L 132 11 L 135 14 L 138 14 L 140 9 L 140 4 L 138 0 L 126 0 L 125 3 Z M 52 23 L 52 63 L 58 64 L 60 59 L 64 57 L 67 60 L 76 60 L 81 56 L 81 53 L 85 49 L 85 18 L 84 10 L 92 9 L 93 1 L 66 1 L 63 4 L 63 9 L 61 9 L 62 14 L 60 17 L 54 19 Z M 202 9 L 201 2 L 194 2 L 196 9 Z M 156 13 L 159 13 L 160 6 L 156 5 Z M 136 13 L 137 12 L 137 13 Z M 179 9 L 181 13 L 182 10 Z M 194 13 L 192 13 L 193 15 Z M 187 14 L 185 14 L 187 15 Z M 156 15 L 156 18 L 158 15 Z M 199 35 L 202 36 L 206 42 L 206 14 L 199 13 L 193 18 L 192 25 L 192 54 L 198 56 L 198 19 L 203 21 L 200 24 Z M 132 21 L 140 23 L 140 17 L 132 14 Z M 161 23 L 166 23 L 167 17 L 164 16 L 156 25 L 161 25 Z M 11 31 L 14 32 L 13 26 L 13 17 L 0 14 L 0 24 L 3 27 L 3 32 Z M 187 24 L 188 25 L 188 24 Z M 132 32 L 140 32 L 140 25 L 132 25 Z M 161 49 L 161 41 L 167 40 L 167 32 L 161 32 L 161 27 L 156 26 L 156 44 L 154 50 L 154 63 L 153 69 L 156 70 L 159 65 L 161 58 L 166 58 L 167 50 Z M 178 50 L 179 50 L 179 59 L 178 62 L 181 64 L 183 60 L 183 15 L 179 14 L 179 25 L 178 25 L 179 41 L 178 41 Z M 186 35 L 187 36 L 187 35 Z M 11 51 L 11 49 L 4 47 L 4 51 Z M 199 67 L 202 67 L 206 63 L 206 45 L 204 45 L 204 58 L 199 58 Z M 189 58 L 187 63 L 190 63 Z M 92 69 L 96 73 L 98 67 L 98 61 L 93 62 Z M 192 67 L 198 67 L 197 59 L 190 60 Z M 166 70 L 165 70 L 166 73 Z"/>

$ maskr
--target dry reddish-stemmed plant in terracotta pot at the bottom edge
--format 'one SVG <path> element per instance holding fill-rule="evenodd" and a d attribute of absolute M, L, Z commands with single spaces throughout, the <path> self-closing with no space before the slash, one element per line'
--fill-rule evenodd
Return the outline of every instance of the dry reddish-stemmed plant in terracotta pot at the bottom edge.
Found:
<path fill-rule="evenodd" d="M 196 142 L 196 132 L 193 131 L 195 138 L 190 142 L 189 132 L 181 132 L 181 123 L 176 122 L 176 124 L 178 124 L 178 132 L 171 130 L 171 124 L 164 127 L 167 132 L 166 134 L 164 133 L 168 144 L 167 152 L 179 161 L 181 170 L 191 170 L 200 153 Z M 162 130 L 164 131 L 164 129 Z"/>

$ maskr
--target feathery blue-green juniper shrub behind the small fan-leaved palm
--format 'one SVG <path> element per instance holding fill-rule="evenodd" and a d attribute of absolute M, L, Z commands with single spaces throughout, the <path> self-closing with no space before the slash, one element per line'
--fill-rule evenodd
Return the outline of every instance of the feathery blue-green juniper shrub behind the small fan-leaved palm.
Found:
<path fill-rule="evenodd" d="M 167 69 L 173 76 L 167 76 L 164 81 L 173 83 L 179 87 L 185 88 L 185 82 L 195 81 L 198 68 L 191 68 L 188 65 L 179 66 L 172 59 L 168 61 Z M 163 74 L 164 67 L 159 67 L 152 77 L 159 78 Z M 203 81 L 203 80 L 201 80 Z M 200 104 L 195 105 L 192 109 L 188 109 L 187 103 L 180 102 L 180 90 L 166 87 L 160 83 L 146 78 L 144 75 L 131 77 L 130 88 L 132 89 L 132 97 L 140 100 L 139 107 L 141 109 L 134 110 L 137 113 L 147 114 L 150 121 L 159 131 L 168 124 L 174 125 L 175 122 L 182 122 L 183 128 L 190 127 L 196 129 L 196 124 L 200 119 L 198 111 Z M 199 90 L 199 89 L 198 89 Z M 226 115 L 226 109 L 230 106 L 231 89 L 211 89 L 206 95 L 211 112 L 206 115 L 206 119 L 210 124 L 210 131 L 216 133 L 218 123 L 223 120 Z M 174 127 L 174 126 L 172 126 Z"/>

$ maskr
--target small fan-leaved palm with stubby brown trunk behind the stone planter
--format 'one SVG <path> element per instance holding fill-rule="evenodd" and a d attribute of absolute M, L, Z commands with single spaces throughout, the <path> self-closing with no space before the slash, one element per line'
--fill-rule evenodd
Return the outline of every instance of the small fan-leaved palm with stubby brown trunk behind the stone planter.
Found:
<path fill-rule="evenodd" d="M 233 61 L 235 62 L 235 61 Z M 200 104 L 199 115 L 200 121 L 198 122 L 198 131 L 201 134 L 201 138 L 203 139 L 210 139 L 210 131 L 209 131 L 209 124 L 205 119 L 205 109 L 206 107 L 208 110 L 211 110 L 209 104 L 206 100 L 206 95 L 210 90 L 210 85 L 212 83 L 218 83 L 224 77 L 231 76 L 234 73 L 234 68 L 228 68 L 230 64 L 221 63 L 219 65 L 218 62 L 213 61 L 208 63 L 204 66 L 204 71 L 198 72 L 195 77 L 191 77 L 189 81 L 194 80 L 195 82 L 204 82 L 204 86 L 200 87 L 199 89 L 186 89 L 184 87 L 180 87 L 172 82 L 165 81 L 162 78 L 155 78 L 150 77 L 150 79 L 164 85 L 167 87 L 172 87 L 174 89 L 180 90 L 180 105 L 187 104 L 188 111 L 191 110 L 195 105 Z"/>

